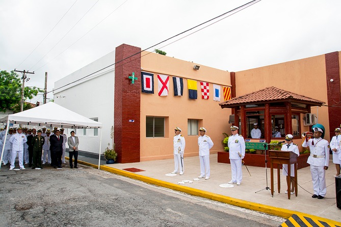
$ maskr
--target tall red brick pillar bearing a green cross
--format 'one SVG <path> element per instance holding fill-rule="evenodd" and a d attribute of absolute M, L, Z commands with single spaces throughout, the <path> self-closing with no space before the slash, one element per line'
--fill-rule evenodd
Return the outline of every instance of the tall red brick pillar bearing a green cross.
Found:
<path fill-rule="evenodd" d="M 114 139 L 117 162 L 120 163 L 140 162 L 140 51 L 139 47 L 122 44 L 116 47 L 115 52 Z M 132 56 L 135 53 L 138 54 Z M 128 78 L 132 72 L 138 77 L 134 84 Z"/>

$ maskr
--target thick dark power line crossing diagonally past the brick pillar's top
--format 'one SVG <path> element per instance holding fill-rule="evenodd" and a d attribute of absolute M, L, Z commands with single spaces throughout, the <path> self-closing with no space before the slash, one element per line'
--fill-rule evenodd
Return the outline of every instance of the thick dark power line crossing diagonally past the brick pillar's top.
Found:
<path fill-rule="evenodd" d="M 55 90 L 53 90 L 53 91 L 56 91 L 56 90 L 58 90 L 58 89 L 64 88 L 64 87 L 66 87 L 66 86 L 69 86 L 70 84 L 75 83 L 75 82 L 77 82 L 77 81 L 80 81 L 80 80 L 82 80 L 82 79 L 84 79 L 84 78 L 86 78 L 86 77 L 88 77 L 88 76 L 91 76 L 91 75 L 93 75 L 93 74 L 95 74 L 95 73 L 97 73 L 97 72 L 99 72 L 99 71 L 101 71 L 101 70 L 103 70 L 103 69 L 106 69 L 106 68 L 111 67 L 111 66 L 113 66 L 113 65 L 116 65 L 116 64 L 118 64 L 118 63 L 120 63 L 120 62 L 123 62 L 123 61 L 126 60 L 126 59 L 132 58 L 133 56 L 135 56 L 135 55 L 137 55 L 137 54 L 139 54 L 139 53 L 141 53 L 141 52 L 143 52 L 143 51 L 145 51 L 145 50 L 148 50 L 148 49 L 150 49 L 150 48 L 153 48 L 153 47 L 155 47 L 155 46 L 157 46 L 157 45 L 159 45 L 159 44 L 161 44 L 161 43 L 164 43 L 164 42 L 166 42 L 166 41 L 168 41 L 168 40 L 170 40 L 170 39 L 173 39 L 173 38 L 175 38 L 175 37 L 177 37 L 177 36 L 179 36 L 179 35 L 182 35 L 182 34 L 187 33 L 187 32 L 189 32 L 189 31 L 191 31 L 191 30 L 193 30 L 193 29 L 196 29 L 197 27 L 199 27 L 199 26 L 201 26 L 201 25 L 203 25 L 203 24 L 205 24 L 205 23 L 208 23 L 208 22 L 210 22 L 210 21 L 213 21 L 213 20 L 215 20 L 215 19 L 217 19 L 217 18 L 219 18 L 219 17 L 222 17 L 222 16 L 224 16 L 224 15 L 226 15 L 226 14 L 228 14 L 228 13 L 231 13 L 231 12 L 236 11 L 236 10 L 237 10 L 237 12 L 239 12 L 239 11 L 242 10 L 242 9 L 246 9 L 246 8 L 247 8 L 246 6 L 248 6 L 248 5 L 250 5 L 250 4 L 253 5 L 253 4 L 258 3 L 258 2 L 260 2 L 260 0 L 253 0 L 253 1 L 251 1 L 251 2 L 249 2 L 249 3 L 246 3 L 246 4 L 242 5 L 242 6 L 239 6 L 239 7 L 237 7 L 237 8 L 234 8 L 233 10 L 230 10 L 230 11 L 228 11 L 228 12 L 226 12 L 226 13 L 223 13 L 223 14 L 221 14 L 221 15 L 219 15 L 219 16 L 216 16 L 216 17 L 214 17 L 214 18 L 212 18 L 212 19 L 209 19 L 209 20 L 207 20 L 207 21 L 205 21 L 205 22 L 203 22 L 203 23 L 200 23 L 200 24 L 198 24 L 198 25 L 192 27 L 191 29 L 188 29 L 188 30 L 186 30 L 186 31 L 183 31 L 183 32 L 181 32 L 181 33 L 179 33 L 179 34 L 177 34 L 177 35 L 174 35 L 174 36 L 172 36 L 172 37 L 170 37 L 170 38 L 168 38 L 168 39 L 166 39 L 166 40 L 164 40 L 164 41 L 161 41 L 161 42 L 159 42 L 159 43 L 157 43 L 157 44 L 154 44 L 154 45 L 152 45 L 152 46 L 150 46 L 150 47 L 148 47 L 148 48 L 146 48 L 146 49 L 144 49 L 144 50 L 141 50 L 141 51 L 139 51 L 139 52 L 137 52 L 137 53 L 135 53 L 135 54 L 132 54 L 132 55 L 130 55 L 130 56 L 127 56 L 125 59 L 122 59 L 122 60 L 120 60 L 120 61 L 118 61 L 118 62 L 115 62 L 115 63 L 113 63 L 113 64 L 111 64 L 111 65 L 109 65 L 109 66 L 106 66 L 106 67 L 104 67 L 104 68 L 102 68 L 102 69 L 100 69 L 100 70 L 97 70 L 97 71 L 95 71 L 95 72 L 93 72 L 93 73 L 90 73 L 90 74 L 88 74 L 88 75 L 86 75 L 86 76 L 84 76 L 84 77 L 82 77 L 82 78 L 80 78 L 80 79 L 77 79 L 77 80 L 73 81 L 73 82 L 67 83 L 67 84 L 65 84 L 64 86 L 59 87 L 59 88 L 57 88 L 57 89 L 55 89 Z M 237 13 L 237 12 L 235 12 L 235 13 Z M 234 13 L 233 13 L 233 14 L 234 14 Z M 226 18 L 226 17 L 224 17 L 224 18 Z M 223 18 L 223 19 L 224 19 L 224 18 Z M 220 21 L 220 20 L 219 20 L 219 21 Z M 218 22 L 218 21 L 217 21 L 217 22 Z M 207 27 L 207 26 L 206 26 L 206 27 Z M 200 31 L 200 30 L 198 30 L 198 31 Z M 193 33 L 192 33 L 192 34 L 193 34 Z M 136 59 L 137 59 L 137 58 L 136 58 Z M 131 61 L 135 61 L 136 59 L 133 59 L 133 60 L 131 60 Z M 131 61 L 129 61 L 129 62 L 131 62 Z M 126 63 L 125 63 L 125 64 L 126 64 Z M 53 92 L 53 91 L 49 91 L 49 92 L 47 92 L 47 93 L 50 93 L 50 92 Z"/>

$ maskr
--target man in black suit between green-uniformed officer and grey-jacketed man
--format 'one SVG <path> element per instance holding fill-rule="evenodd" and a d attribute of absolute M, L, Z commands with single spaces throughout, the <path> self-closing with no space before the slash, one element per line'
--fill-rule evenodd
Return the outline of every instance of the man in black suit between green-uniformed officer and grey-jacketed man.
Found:
<path fill-rule="evenodd" d="M 63 136 L 57 129 L 55 134 L 50 136 L 51 165 L 54 168 L 62 168 Z"/>

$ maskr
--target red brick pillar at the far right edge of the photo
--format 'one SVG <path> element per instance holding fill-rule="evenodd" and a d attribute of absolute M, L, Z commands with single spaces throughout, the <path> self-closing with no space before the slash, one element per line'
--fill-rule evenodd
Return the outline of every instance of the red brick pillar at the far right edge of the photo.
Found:
<path fill-rule="evenodd" d="M 340 90 L 340 67 L 338 60 L 338 51 L 326 54 L 326 79 L 327 79 L 327 97 L 329 114 L 329 135 L 333 137 L 335 128 L 339 127 L 341 90 Z M 330 79 L 334 81 L 331 82 Z"/>

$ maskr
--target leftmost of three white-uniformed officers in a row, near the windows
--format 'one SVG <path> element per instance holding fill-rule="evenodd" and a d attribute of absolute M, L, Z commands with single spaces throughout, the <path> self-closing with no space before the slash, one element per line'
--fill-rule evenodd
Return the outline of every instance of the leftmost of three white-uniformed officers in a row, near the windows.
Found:
<path fill-rule="evenodd" d="M 174 152 L 174 171 L 172 174 L 176 174 L 180 169 L 180 174 L 182 175 L 185 172 L 185 166 L 183 165 L 183 153 L 185 152 L 185 137 L 181 135 L 181 129 L 179 127 L 175 127 L 174 129 L 175 135 L 173 137 L 173 152 Z"/>

